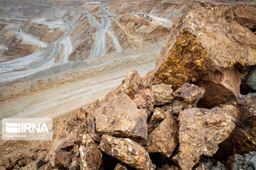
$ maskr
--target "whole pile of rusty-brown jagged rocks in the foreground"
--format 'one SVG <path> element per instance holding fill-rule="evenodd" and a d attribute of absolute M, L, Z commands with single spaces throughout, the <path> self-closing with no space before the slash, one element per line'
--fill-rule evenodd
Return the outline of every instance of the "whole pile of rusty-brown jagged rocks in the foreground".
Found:
<path fill-rule="evenodd" d="M 41 169 L 209 169 L 202 157 L 250 152 L 256 97 L 238 94 L 255 64 L 256 35 L 232 7 L 195 6 L 174 25 L 156 68 L 142 79 L 130 72 L 80 108 L 80 127 L 58 132 Z"/>

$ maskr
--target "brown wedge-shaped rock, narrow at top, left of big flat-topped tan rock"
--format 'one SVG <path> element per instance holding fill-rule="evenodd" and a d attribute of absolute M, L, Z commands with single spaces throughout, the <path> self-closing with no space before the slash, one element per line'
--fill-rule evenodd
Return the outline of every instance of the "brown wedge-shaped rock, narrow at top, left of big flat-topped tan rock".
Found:
<path fill-rule="evenodd" d="M 159 152 L 170 157 L 178 145 L 178 125 L 171 113 L 165 113 L 166 118 L 149 134 L 146 151 Z"/>

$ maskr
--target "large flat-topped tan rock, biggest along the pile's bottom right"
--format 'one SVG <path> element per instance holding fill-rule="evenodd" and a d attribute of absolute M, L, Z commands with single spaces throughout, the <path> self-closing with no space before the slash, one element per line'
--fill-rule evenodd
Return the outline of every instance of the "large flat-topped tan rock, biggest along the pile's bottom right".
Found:
<path fill-rule="evenodd" d="M 212 156 L 218 144 L 235 128 L 236 107 L 189 108 L 179 113 L 179 152 L 176 160 L 183 170 L 192 169 L 202 154 Z"/>

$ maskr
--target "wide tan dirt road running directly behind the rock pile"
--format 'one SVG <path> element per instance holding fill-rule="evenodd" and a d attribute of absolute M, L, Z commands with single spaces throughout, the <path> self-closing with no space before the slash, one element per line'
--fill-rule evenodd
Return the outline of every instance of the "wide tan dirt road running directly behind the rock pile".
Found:
<path fill-rule="evenodd" d="M 127 72 L 137 69 L 143 76 L 152 68 L 154 68 L 154 62 L 118 72 L 99 74 L 96 77 L 50 89 L 40 94 L 7 101 L 0 104 L 0 118 L 54 118 L 91 103 L 97 98 L 102 98 L 122 82 Z"/>

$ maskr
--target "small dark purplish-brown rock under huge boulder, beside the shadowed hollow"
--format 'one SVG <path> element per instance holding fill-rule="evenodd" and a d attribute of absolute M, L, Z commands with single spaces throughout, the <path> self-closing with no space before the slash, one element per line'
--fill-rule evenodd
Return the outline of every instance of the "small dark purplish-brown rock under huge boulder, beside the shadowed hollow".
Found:
<path fill-rule="evenodd" d="M 174 96 L 176 98 L 181 98 L 182 101 L 192 104 L 192 106 L 195 107 L 205 92 L 206 90 L 203 89 L 203 87 L 186 83 L 174 92 Z"/>

